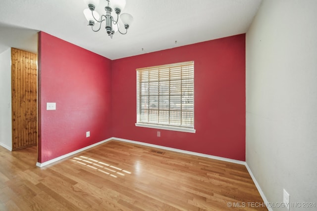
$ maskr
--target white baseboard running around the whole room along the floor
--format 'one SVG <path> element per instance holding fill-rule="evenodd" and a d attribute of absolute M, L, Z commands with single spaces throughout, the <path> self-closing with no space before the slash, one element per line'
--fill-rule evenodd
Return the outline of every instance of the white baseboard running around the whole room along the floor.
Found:
<path fill-rule="evenodd" d="M 241 165 L 244 165 L 247 170 L 249 171 L 249 174 L 251 175 L 251 178 L 254 182 L 254 184 L 256 185 L 263 201 L 264 201 L 264 204 L 267 205 L 268 204 L 268 201 L 259 185 L 259 183 L 257 182 L 256 178 L 254 177 L 251 169 L 249 168 L 248 164 L 244 161 L 239 161 L 239 160 L 234 160 L 234 159 L 229 159 L 229 158 L 222 158 L 222 157 L 218 157 L 218 156 L 213 156 L 213 155 L 207 155 L 207 154 L 203 154 L 203 153 L 197 153 L 197 152 L 191 152 L 191 151 L 186 151 L 186 150 L 181 150 L 181 149 L 176 149 L 176 148 L 171 148 L 171 147 L 164 147 L 164 146 L 160 146 L 160 145 L 156 145 L 156 144 L 149 144 L 149 143 L 145 143 L 145 142 L 140 142 L 140 141 L 133 141 L 133 140 L 128 140 L 128 139 L 123 139 L 123 138 L 116 138 L 116 137 L 111 137 L 111 138 L 108 138 L 106 140 L 103 140 L 103 141 L 100 141 L 98 143 L 95 143 L 95 144 L 92 144 L 92 145 L 89 145 L 87 147 L 84 147 L 84 148 L 81 148 L 79 150 L 76 150 L 76 151 L 73 151 L 73 152 L 70 152 L 66 155 L 62 155 L 60 157 L 57 157 L 57 158 L 54 158 L 50 161 L 46 161 L 44 163 L 39 163 L 37 162 L 36 163 L 36 166 L 37 167 L 44 167 L 44 166 L 47 166 L 49 164 L 52 164 L 56 161 L 59 161 L 59 160 L 62 160 L 64 158 L 67 158 L 69 156 L 72 156 L 74 154 L 77 154 L 79 152 L 82 152 L 84 150 L 87 150 L 87 149 L 90 149 L 92 147 L 95 147 L 99 144 L 103 144 L 103 143 L 106 143 L 107 141 L 110 141 L 110 140 L 118 140 L 118 141 L 124 141 L 124 142 L 129 142 L 129 143 L 133 143 L 133 144 L 139 144 L 139 145 L 144 145 L 144 146 L 149 146 L 149 147 L 155 147 L 155 148 L 159 148 L 159 149 L 164 149 L 164 150 L 169 150 L 169 151 L 173 151 L 173 152 L 180 152 L 180 153 L 184 153 L 184 154 L 189 154 L 189 155 L 195 155 L 195 156 L 200 156 L 200 157 L 205 157 L 205 158 L 211 158 L 211 159 L 215 159 L 215 160 L 220 160 L 220 161 L 226 161 L 226 162 L 230 162 L 230 163 L 234 163 L 234 164 L 241 164 Z M 1 146 L 3 146 L 1 143 L 0 143 Z M 5 146 L 3 146 L 5 147 Z M 6 148 L 6 147 L 5 147 Z M 272 208 L 270 207 L 267 207 L 268 211 L 273 211 Z"/>

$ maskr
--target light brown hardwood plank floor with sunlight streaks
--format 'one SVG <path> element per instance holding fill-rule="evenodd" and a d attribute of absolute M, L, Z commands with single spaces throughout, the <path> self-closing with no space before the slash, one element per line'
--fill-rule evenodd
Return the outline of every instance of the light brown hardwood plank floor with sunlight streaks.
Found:
<path fill-rule="evenodd" d="M 0 147 L 1 211 L 267 210 L 243 165 L 114 140 L 44 168 L 36 157 Z"/>

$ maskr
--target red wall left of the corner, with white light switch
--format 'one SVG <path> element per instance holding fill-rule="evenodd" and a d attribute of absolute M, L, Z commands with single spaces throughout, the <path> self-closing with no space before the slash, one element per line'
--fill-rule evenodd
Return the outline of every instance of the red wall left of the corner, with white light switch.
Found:
<path fill-rule="evenodd" d="M 111 60 L 40 32 L 39 162 L 111 136 Z"/>

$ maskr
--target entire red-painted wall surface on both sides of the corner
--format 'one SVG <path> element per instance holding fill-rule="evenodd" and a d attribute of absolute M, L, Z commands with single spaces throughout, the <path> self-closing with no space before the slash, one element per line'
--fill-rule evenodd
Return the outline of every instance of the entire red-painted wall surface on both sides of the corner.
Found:
<path fill-rule="evenodd" d="M 135 70 L 191 60 L 196 133 L 136 127 Z M 39 162 L 112 136 L 245 161 L 245 35 L 110 61 L 40 32 Z"/>

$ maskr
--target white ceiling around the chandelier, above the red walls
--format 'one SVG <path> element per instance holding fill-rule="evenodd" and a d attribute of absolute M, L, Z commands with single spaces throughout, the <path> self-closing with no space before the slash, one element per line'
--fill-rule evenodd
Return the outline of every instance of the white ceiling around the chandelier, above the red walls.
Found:
<path fill-rule="evenodd" d="M 122 12 L 134 22 L 111 40 L 104 26 L 99 32 L 87 26 L 84 0 L 1 0 L 0 53 L 8 47 L 37 52 L 38 31 L 109 59 L 214 40 L 246 33 L 262 0 L 126 1 Z"/>

